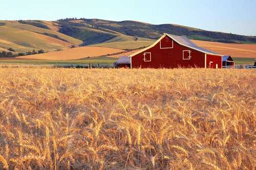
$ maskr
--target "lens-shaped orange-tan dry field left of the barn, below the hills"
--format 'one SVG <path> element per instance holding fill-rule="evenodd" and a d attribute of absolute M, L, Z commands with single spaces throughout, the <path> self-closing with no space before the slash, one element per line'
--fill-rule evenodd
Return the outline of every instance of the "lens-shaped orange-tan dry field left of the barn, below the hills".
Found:
<path fill-rule="evenodd" d="M 76 60 L 76 59 L 82 59 L 87 57 L 98 57 L 98 56 L 103 56 L 108 54 L 115 54 L 119 52 L 123 52 L 123 50 L 119 50 L 116 48 L 108 48 L 108 47 L 86 46 L 86 47 L 71 48 L 71 49 L 63 50 L 59 52 L 36 54 L 36 55 L 22 56 L 17 58 L 42 59 L 42 60 Z"/>

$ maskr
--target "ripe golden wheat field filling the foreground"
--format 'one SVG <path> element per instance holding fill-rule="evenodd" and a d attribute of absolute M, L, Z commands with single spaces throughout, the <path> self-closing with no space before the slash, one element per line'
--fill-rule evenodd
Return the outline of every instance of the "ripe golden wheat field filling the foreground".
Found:
<path fill-rule="evenodd" d="M 0 68 L 0 169 L 255 169 L 255 70 Z"/>

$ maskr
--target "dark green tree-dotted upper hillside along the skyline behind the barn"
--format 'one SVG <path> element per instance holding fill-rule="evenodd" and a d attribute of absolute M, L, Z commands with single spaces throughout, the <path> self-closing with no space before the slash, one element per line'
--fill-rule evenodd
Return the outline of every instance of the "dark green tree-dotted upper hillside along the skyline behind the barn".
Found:
<path fill-rule="evenodd" d="M 74 22 L 78 21 L 78 22 Z M 86 19 L 86 18 L 67 18 L 58 20 L 60 27 L 65 28 L 70 25 L 77 27 L 91 26 L 94 29 L 108 29 L 120 34 L 132 37 L 143 37 L 157 39 L 163 33 L 169 33 L 179 36 L 187 36 L 195 40 L 216 41 L 226 43 L 255 43 L 256 37 L 243 36 L 231 33 L 222 33 L 214 31 L 205 31 L 197 28 L 179 26 L 173 24 L 152 25 L 150 23 L 138 21 L 110 21 L 102 19 Z"/>

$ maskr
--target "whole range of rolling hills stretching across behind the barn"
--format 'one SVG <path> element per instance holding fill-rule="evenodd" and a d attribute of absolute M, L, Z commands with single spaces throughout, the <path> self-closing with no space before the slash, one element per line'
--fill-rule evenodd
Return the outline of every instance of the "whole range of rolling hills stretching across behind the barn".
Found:
<path fill-rule="evenodd" d="M 255 36 L 211 32 L 172 24 L 152 25 L 138 21 L 85 18 L 0 21 L 0 51 L 8 52 L 11 48 L 14 54 L 40 49 L 55 52 L 77 46 L 136 50 L 151 45 L 162 33 L 200 40 L 196 43 L 220 54 L 231 54 L 235 57 L 255 56 L 254 46 L 244 45 L 256 43 Z M 108 51 L 104 54 L 107 55 Z"/>

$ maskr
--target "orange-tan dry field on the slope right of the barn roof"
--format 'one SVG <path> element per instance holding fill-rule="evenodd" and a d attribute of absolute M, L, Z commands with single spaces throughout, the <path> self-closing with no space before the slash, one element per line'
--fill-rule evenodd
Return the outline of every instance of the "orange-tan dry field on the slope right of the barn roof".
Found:
<path fill-rule="evenodd" d="M 198 40 L 192 41 L 198 46 L 202 46 L 222 55 L 230 55 L 232 57 L 256 58 L 256 44 L 229 44 Z"/>

